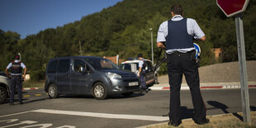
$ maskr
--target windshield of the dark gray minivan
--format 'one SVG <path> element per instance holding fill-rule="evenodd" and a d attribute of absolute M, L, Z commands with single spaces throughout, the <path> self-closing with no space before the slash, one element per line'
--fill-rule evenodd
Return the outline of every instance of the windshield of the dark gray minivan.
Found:
<path fill-rule="evenodd" d="M 118 69 L 116 64 L 113 64 L 108 59 L 103 58 L 86 58 L 85 59 L 92 67 L 96 70 L 105 70 L 105 69 Z"/>

